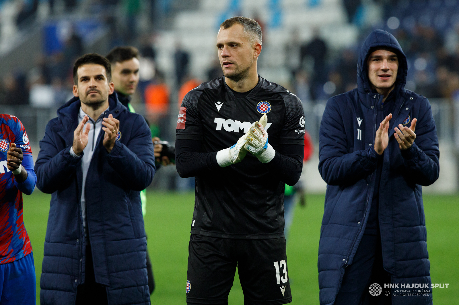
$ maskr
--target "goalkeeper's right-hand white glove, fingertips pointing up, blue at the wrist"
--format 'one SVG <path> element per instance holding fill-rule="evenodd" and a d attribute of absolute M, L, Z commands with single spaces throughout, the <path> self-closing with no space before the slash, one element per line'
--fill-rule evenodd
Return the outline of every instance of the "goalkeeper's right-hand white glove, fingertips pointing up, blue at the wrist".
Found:
<path fill-rule="evenodd" d="M 268 163 L 274 158 L 276 151 L 268 143 L 268 132 L 264 127 L 268 124 L 266 114 L 260 118 L 259 122 L 255 122 L 249 129 L 249 135 L 244 146 L 248 152 L 258 158 L 261 163 Z"/>

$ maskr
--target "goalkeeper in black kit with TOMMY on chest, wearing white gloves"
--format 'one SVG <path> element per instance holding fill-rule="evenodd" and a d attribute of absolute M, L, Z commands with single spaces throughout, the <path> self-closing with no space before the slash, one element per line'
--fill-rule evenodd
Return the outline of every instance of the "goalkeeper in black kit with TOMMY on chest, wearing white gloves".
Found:
<path fill-rule="evenodd" d="M 292 301 L 284 237 L 284 185 L 300 178 L 304 113 L 297 96 L 257 74 L 261 27 L 224 21 L 224 76 L 183 99 L 176 165 L 196 176 L 187 304 L 228 304 L 236 266 L 246 305 Z"/>

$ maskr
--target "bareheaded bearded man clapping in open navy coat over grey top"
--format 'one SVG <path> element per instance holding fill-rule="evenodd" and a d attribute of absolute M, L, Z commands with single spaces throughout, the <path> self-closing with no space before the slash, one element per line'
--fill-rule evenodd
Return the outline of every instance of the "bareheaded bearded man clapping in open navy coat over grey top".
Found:
<path fill-rule="evenodd" d="M 51 193 L 40 303 L 150 304 L 140 191 L 155 174 L 151 132 L 113 93 L 110 62 L 80 57 L 72 98 L 35 163 Z"/>

